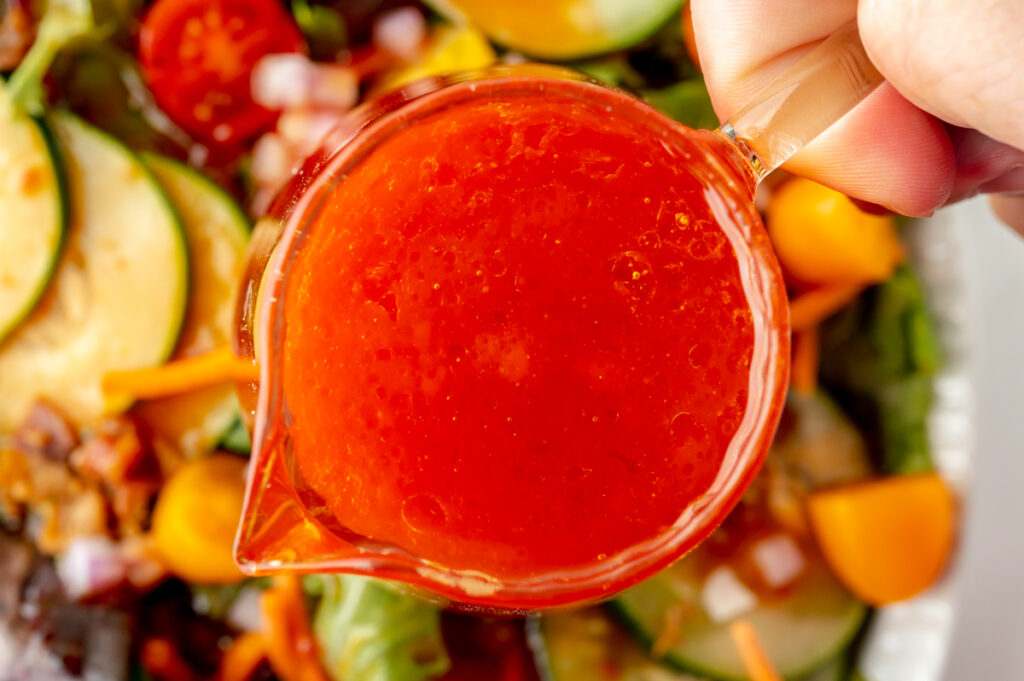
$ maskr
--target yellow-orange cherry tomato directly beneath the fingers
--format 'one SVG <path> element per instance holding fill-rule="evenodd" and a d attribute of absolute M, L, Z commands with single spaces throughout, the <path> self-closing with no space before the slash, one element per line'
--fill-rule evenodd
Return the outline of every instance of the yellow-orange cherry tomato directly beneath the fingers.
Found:
<path fill-rule="evenodd" d="M 904 260 L 892 217 L 865 213 L 802 177 L 774 193 L 766 222 L 783 269 L 800 285 L 874 284 Z"/>

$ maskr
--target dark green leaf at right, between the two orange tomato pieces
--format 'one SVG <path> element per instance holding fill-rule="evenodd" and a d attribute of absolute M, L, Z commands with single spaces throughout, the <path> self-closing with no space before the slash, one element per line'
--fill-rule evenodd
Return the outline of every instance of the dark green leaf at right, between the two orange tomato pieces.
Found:
<path fill-rule="evenodd" d="M 939 364 L 938 335 L 908 266 L 822 328 L 822 382 L 868 433 L 887 473 L 932 468 L 927 417 Z"/>

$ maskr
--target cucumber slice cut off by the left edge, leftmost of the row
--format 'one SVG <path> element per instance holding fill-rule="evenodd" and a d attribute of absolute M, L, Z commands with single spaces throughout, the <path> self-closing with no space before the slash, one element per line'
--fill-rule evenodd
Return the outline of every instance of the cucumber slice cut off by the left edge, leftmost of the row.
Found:
<path fill-rule="evenodd" d="M 60 155 L 0 83 L 0 343 L 53 275 L 68 222 Z"/>

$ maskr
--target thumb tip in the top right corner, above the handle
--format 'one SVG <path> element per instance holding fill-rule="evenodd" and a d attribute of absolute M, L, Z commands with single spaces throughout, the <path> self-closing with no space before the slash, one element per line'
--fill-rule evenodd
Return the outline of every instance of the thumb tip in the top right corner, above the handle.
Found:
<path fill-rule="evenodd" d="M 907 99 L 1024 150 L 1024 2 L 860 0 L 871 60 Z"/>

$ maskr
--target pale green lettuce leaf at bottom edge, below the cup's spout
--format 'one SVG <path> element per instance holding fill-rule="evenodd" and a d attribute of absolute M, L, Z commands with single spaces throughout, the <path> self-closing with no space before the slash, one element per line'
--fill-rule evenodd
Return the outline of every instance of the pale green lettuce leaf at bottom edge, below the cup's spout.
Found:
<path fill-rule="evenodd" d="M 334 681 L 425 681 L 449 669 L 436 607 L 361 577 L 321 580 L 313 632 Z"/>

